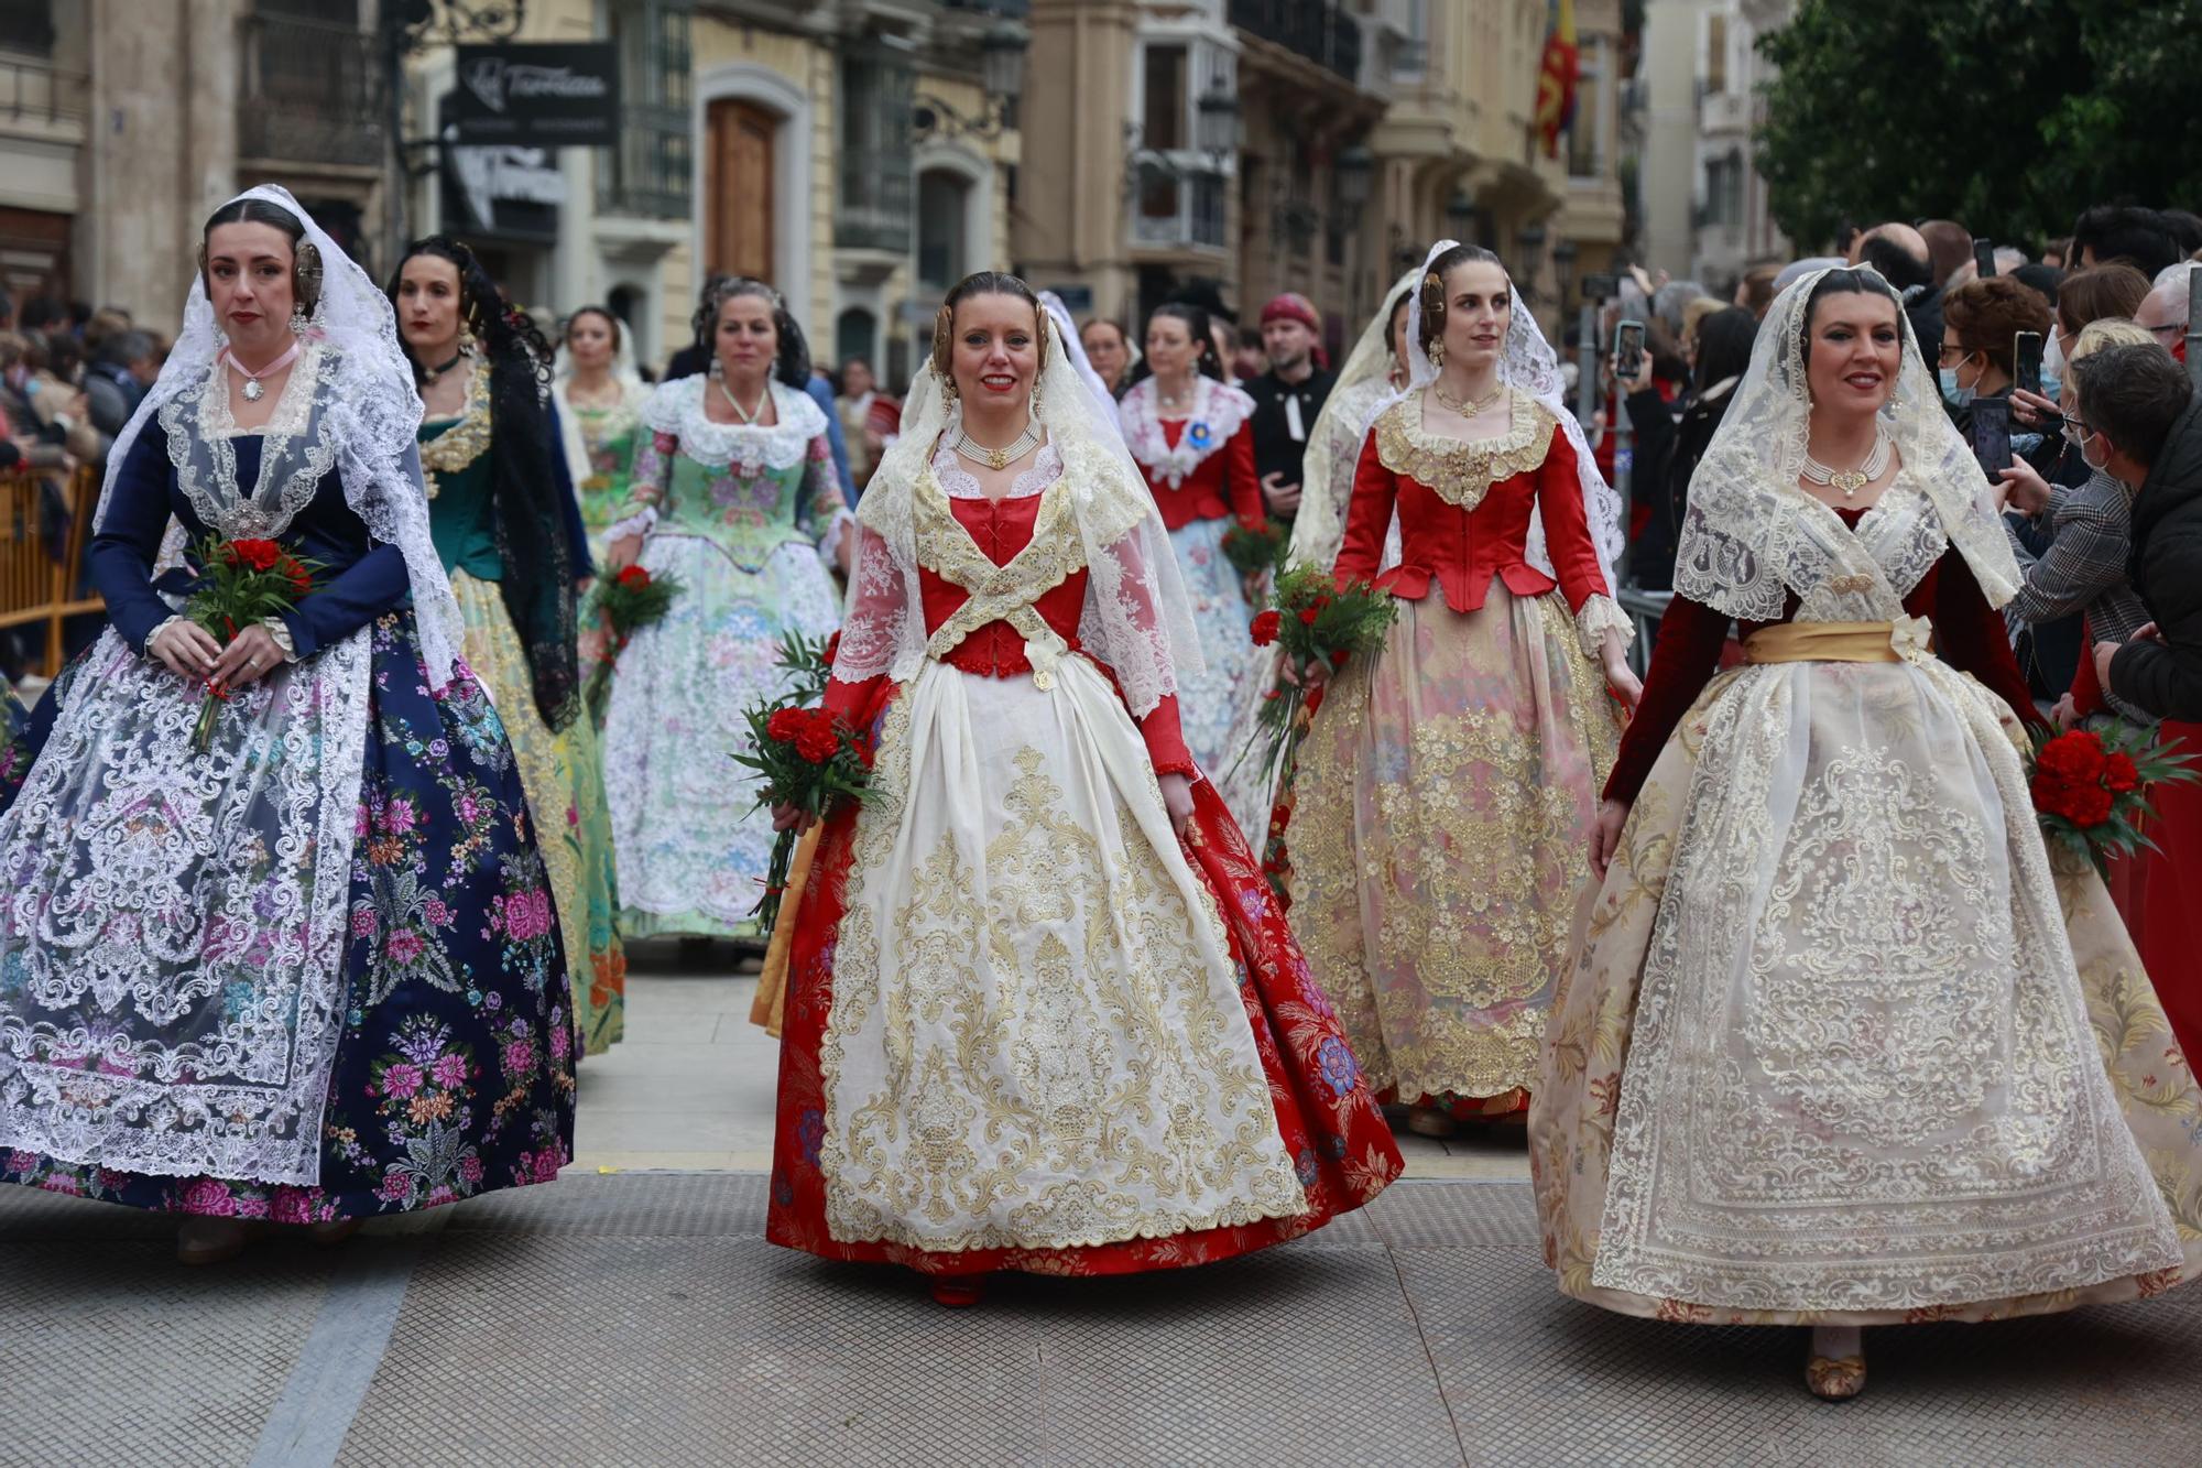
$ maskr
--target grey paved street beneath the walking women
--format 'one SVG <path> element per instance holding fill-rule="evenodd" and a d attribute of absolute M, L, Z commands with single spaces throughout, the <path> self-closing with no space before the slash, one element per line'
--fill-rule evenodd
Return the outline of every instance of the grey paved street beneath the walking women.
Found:
<path fill-rule="evenodd" d="M 2202 1428 L 2202 1289 L 1881 1331 L 1823 1406 L 1797 1331 L 1561 1300 L 1497 1144 L 1416 1144 L 1262 1256 L 942 1312 L 762 1241 L 751 983 L 645 952 L 562 1181 L 341 1250 L 187 1272 L 165 1219 L 0 1188 L 0 1464 L 2167 1464 Z"/>

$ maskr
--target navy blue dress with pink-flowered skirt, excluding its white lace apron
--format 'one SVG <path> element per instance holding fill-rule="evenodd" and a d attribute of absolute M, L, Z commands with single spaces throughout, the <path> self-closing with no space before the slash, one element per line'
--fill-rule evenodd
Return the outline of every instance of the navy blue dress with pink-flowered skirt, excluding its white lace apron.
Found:
<path fill-rule="evenodd" d="M 233 443 L 238 483 L 253 483 L 260 441 Z M 99 683 L 119 674 L 123 659 L 143 659 L 145 637 L 172 615 L 150 571 L 172 514 L 194 542 L 207 536 L 176 485 L 165 434 L 148 425 L 90 549 L 119 646 L 103 639 L 70 663 L 29 730 L 0 752 L 0 835 L 15 829 L 4 813 L 24 789 L 42 785 L 37 760 L 64 756 L 59 741 L 46 743 L 57 710 L 97 699 Z M 405 562 L 394 547 L 370 544 L 337 472 L 282 540 L 326 566 L 284 615 L 299 663 L 363 628 L 370 657 L 341 1034 L 321 1113 L 319 1181 L 167 1177 L 0 1144 L 4 1181 L 137 1208 L 306 1223 L 548 1181 L 573 1155 L 566 959 L 504 725 L 465 670 L 440 694 L 429 690 Z M 189 580 L 189 571 L 172 571 L 161 589 L 181 593 Z M 24 928 L 15 941 L 37 939 Z M 24 1003 L 20 994 L 0 974 L 0 1018 Z M 227 994 L 220 1003 L 251 999 Z M 115 1023 L 130 1023 L 128 1003 L 115 1007 Z M 24 1060 L 0 1056 L 0 1073 L 11 1058 Z"/>

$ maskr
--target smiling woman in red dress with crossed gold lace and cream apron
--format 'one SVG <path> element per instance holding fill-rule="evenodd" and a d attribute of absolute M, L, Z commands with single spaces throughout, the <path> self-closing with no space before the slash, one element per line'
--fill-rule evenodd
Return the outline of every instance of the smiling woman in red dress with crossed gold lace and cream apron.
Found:
<path fill-rule="evenodd" d="M 1015 276 L 956 287 L 859 507 L 826 705 L 872 798 L 826 824 L 782 1034 L 766 1237 L 949 1305 L 1244 1254 L 1400 1168 L 1185 747 L 1185 584 L 1050 335 Z"/>

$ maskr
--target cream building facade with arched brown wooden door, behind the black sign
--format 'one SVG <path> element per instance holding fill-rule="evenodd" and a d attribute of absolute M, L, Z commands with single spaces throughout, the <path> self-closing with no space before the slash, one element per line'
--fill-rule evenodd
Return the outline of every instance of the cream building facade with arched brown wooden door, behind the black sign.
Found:
<path fill-rule="evenodd" d="M 711 273 L 771 280 L 815 361 L 907 379 L 947 284 L 1009 265 L 1013 115 L 984 95 L 1011 0 L 533 0 L 520 42 L 619 48 L 617 148 L 443 148 L 418 229 L 482 249 L 513 300 L 608 304 L 663 364 Z M 407 62 L 421 132 L 454 53 Z"/>

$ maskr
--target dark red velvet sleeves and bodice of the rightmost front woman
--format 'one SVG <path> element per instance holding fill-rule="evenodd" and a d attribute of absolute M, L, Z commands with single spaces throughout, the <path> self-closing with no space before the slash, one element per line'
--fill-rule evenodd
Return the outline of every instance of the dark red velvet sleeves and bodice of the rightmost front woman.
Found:
<path fill-rule="evenodd" d="M 1836 509 L 1843 525 L 1856 529 L 1863 509 Z M 1958 547 L 1942 551 L 1942 560 L 1920 578 L 1920 584 L 1905 597 L 1905 613 L 1933 622 L 1933 646 L 1944 663 L 1960 672 L 1971 672 L 1988 692 L 2010 705 L 2026 723 L 2039 725 L 2041 710 L 2035 708 L 2026 690 L 2026 674 L 2010 652 L 2010 637 L 2004 619 L 1988 597 L 1982 595 L 1973 569 L 1964 564 Z M 1781 622 L 1795 622 L 1797 593 L 1790 593 Z M 1740 622 L 1740 635 L 1751 637 L 1770 622 Z M 1614 774 L 1605 782 L 1607 800 L 1636 800 L 1652 776 L 1652 765 L 1682 714 L 1698 701 L 1704 686 L 1720 668 L 1720 650 L 1729 641 L 1729 617 L 1724 613 L 1678 595 L 1658 626 L 1658 646 L 1652 650 L 1652 672 L 1645 677 L 1645 697 L 1621 734 L 1621 756 Z"/>

